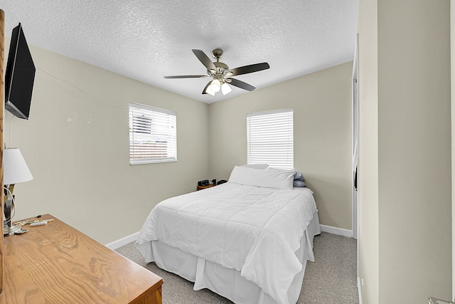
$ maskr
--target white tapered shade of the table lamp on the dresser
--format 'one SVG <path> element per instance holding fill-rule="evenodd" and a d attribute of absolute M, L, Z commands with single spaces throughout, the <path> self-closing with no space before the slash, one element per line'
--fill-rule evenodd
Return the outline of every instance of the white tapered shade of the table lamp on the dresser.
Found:
<path fill-rule="evenodd" d="M 21 151 L 17 148 L 6 148 L 4 150 L 3 168 L 4 184 L 17 184 L 33 179 Z"/>

